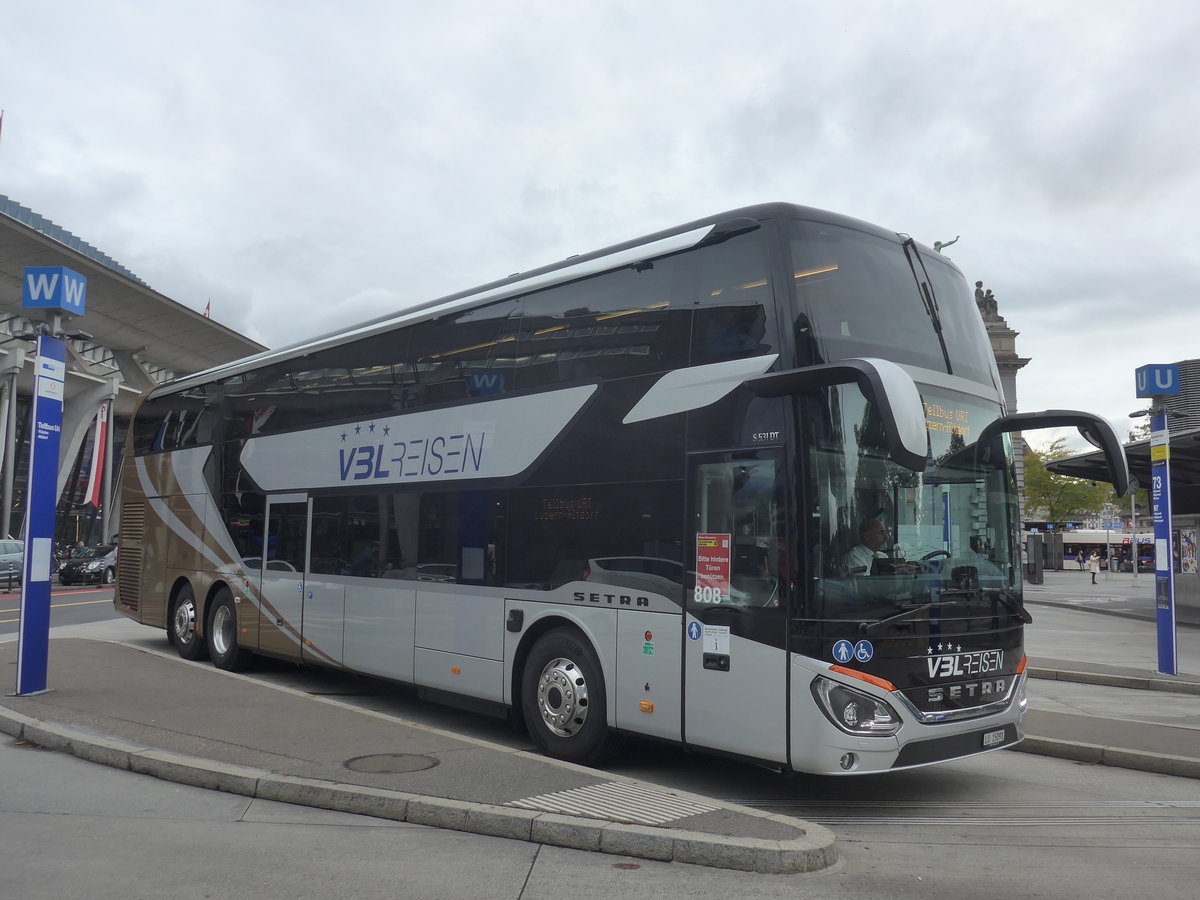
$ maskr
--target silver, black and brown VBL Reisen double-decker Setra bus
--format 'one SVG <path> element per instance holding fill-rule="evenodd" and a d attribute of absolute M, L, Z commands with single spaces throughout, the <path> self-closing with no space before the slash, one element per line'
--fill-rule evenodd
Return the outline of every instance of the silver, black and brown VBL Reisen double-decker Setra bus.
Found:
<path fill-rule="evenodd" d="M 1127 488 L 1102 420 L 1006 415 L 948 259 L 751 206 L 151 391 L 114 602 L 186 659 L 494 704 L 576 762 L 920 766 L 1022 737 L 1008 433 L 1043 425 Z"/>

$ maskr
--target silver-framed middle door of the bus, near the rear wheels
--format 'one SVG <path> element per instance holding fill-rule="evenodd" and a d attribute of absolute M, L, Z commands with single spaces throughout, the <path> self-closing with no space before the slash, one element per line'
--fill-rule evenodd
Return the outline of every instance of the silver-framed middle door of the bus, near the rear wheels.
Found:
<path fill-rule="evenodd" d="M 305 570 L 308 563 L 308 496 L 280 494 L 266 499 L 260 582 L 263 608 L 258 648 L 289 659 L 300 658 L 304 629 Z"/>

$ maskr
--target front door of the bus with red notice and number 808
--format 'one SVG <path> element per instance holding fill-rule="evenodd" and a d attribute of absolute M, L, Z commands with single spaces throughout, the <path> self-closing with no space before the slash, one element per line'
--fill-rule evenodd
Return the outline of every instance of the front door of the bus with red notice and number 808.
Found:
<path fill-rule="evenodd" d="M 684 739 L 787 761 L 787 516 L 778 451 L 689 464 Z"/>

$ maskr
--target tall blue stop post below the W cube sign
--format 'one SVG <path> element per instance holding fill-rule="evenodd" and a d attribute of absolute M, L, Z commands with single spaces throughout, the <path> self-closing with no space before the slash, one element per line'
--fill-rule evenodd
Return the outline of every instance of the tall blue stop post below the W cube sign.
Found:
<path fill-rule="evenodd" d="M 37 338 L 34 430 L 29 491 L 25 494 L 25 556 L 20 576 L 20 628 L 17 637 L 18 696 L 46 690 L 50 643 L 50 557 L 54 552 L 66 359 L 62 341 L 46 335 Z"/>

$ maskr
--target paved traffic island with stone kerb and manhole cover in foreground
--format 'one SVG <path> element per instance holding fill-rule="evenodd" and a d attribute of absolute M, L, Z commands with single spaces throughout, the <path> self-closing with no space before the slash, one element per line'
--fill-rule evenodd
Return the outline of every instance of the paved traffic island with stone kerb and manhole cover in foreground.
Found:
<path fill-rule="evenodd" d="M 14 660 L 16 643 L 0 644 L 0 671 Z M 166 653 L 55 638 L 50 671 L 54 690 L 0 697 L 0 732 L 199 787 L 576 850 L 775 874 L 838 859 L 817 824 Z"/>

